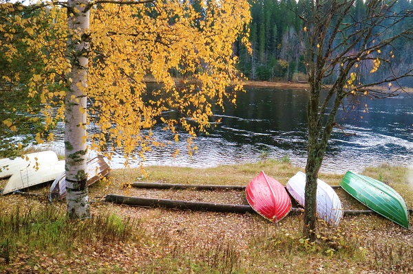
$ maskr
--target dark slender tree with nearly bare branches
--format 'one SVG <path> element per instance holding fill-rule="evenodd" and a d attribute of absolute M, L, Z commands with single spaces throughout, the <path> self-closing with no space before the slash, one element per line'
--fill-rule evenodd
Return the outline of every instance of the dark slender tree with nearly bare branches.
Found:
<path fill-rule="evenodd" d="M 396 0 L 370 0 L 366 14 L 352 16 L 356 0 L 310 1 L 304 8 L 305 59 L 310 84 L 308 102 L 308 157 L 306 163 L 306 205 L 304 234 L 314 240 L 316 220 L 316 191 L 319 168 L 324 159 L 328 139 L 335 126 L 337 111 L 343 100 L 350 102 L 386 98 L 397 95 L 402 87 L 399 80 L 413 76 L 413 67 L 394 71 L 392 62 L 399 39 L 413 39 L 413 25 L 404 25 L 411 19 L 413 10 L 394 10 Z M 353 19 L 348 23 L 346 19 Z M 390 76 L 380 80 L 363 77 L 360 64 L 368 62 L 368 73 L 380 69 L 390 71 Z M 332 73 L 337 78 L 329 86 L 323 81 Z M 366 108 L 368 101 L 366 101 Z M 367 111 L 367 110 L 364 110 Z"/>

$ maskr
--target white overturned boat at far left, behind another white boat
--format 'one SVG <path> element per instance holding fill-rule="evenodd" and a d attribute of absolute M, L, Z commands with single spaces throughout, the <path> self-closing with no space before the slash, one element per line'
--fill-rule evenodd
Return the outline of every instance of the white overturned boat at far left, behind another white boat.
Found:
<path fill-rule="evenodd" d="M 35 167 L 39 165 L 50 165 L 57 163 L 57 155 L 53 151 L 34 152 L 14 159 L 0 159 L 0 179 L 20 174 L 22 168 Z"/>

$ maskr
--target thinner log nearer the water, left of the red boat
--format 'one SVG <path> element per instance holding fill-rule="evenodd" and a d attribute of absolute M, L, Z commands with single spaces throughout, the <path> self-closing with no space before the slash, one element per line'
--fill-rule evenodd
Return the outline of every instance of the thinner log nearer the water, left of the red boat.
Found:
<path fill-rule="evenodd" d="M 239 190 L 243 191 L 246 185 L 182 185 L 175 183 L 131 183 L 132 187 L 138 188 L 155 188 L 158 190 Z M 332 188 L 339 188 L 339 185 L 332 185 Z"/>

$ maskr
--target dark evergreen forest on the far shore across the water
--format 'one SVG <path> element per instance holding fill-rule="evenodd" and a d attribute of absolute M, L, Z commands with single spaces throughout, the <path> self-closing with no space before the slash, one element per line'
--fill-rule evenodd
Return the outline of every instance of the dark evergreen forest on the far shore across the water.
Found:
<path fill-rule="evenodd" d="M 306 0 L 257 0 L 251 1 L 251 48 L 249 54 L 246 47 L 241 43 L 235 45 L 235 54 L 239 56 L 238 68 L 250 80 L 304 82 L 306 81 L 306 65 L 304 63 L 304 25 L 297 14 L 303 14 L 304 7 L 310 5 Z M 355 1 L 351 16 L 346 18 L 349 24 L 357 23 L 366 16 L 368 1 Z M 308 9 L 308 8 L 307 8 Z M 392 12 L 401 10 L 412 10 L 413 1 L 396 0 Z M 381 28 L 385 29 L 390 21 L 384 21 Z M 403 28 L 413 24 L 412 18 L 401 19 L 397 27 Z M 362 24 L 359 24 L 360 27 Z M 354 25 L 357 27 L 357 25 Z M 356 29 L 346 32 L 357 32 Z M 381 29 L 377 28 L 377 33 Z M 384 35 L 378 35 L 385 39 Z M 378 41 L 376 41 L 377 43 Z M 339 43 L 339 41 L 337 41 Z M 361 43 L 360 45 L 361 46 Z M 407 71 L 413 67 L 413 55 L 411 54 L 413 41 L 410 37 L 401 38 L 399 43 L 393 47 L 382 50 L 382 58 L 392 61 L 392 67 L 388 65 L 380 67 L 374 73 L 370 73 L 374 66 L 372 60 L 365 61 L 359 65 L 359 82 L 374 82 L 385 79 L 390 71 Z M 357 50 L 357 49 L 356 49 Z M 338 69 L 338 67 L 337 67 Z M 325 80 L 329 84 L 335 80 L 331 75 Z M 413 87 L 413 78 L 405 78 L 399 81 L 401 87 Z"/>

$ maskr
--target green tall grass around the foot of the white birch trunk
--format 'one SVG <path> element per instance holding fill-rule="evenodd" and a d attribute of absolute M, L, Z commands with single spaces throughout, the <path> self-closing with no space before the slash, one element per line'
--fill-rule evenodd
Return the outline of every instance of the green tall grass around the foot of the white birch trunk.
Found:
<path fill-rule="evenodd" d="M 89 220 L 69 220 L 50 204 L 36 210 L 15 207 L 0 215 L 1 251 L 13 250 L 21 243 L 28 248 L 49 247 L 68 250 L 74 242 L 126 242 L 131 239 L 138 221 L 123 219 L 116 214 L 96 214 Z M 3 256 L 4 257 L 4 256 Z"/>

